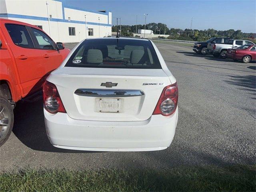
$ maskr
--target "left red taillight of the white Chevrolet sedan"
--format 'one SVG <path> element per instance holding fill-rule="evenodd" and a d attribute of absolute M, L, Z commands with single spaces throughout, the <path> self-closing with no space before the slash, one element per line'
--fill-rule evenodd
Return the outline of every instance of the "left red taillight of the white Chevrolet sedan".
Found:
<path fill-rule="evenodd" d="M 49 113 L 66 113 L 56 86 L 48 81 L 43 85 L 44 108 Z"/>

